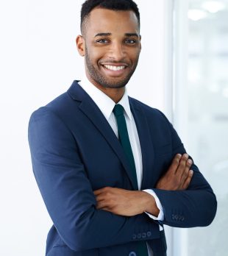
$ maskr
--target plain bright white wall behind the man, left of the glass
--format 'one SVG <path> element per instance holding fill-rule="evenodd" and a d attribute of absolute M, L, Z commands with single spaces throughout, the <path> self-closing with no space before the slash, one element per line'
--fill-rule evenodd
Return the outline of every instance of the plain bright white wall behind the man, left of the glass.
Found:
<path fill-rule="evenodd" d="M 32 111 L 82 74 L 76 52 L 80 1 L 1 4 L 1 255 L 44 255 L 51 220 L 32 174 L 27 125 Z M 143 49 L 129 94 L 163 109 L 163 1 L 138 0 Z"/>

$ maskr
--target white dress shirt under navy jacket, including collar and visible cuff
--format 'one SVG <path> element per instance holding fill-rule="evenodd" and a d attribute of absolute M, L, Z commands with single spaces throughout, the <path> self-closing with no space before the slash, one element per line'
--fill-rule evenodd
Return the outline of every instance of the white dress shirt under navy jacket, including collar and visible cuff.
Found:
<path fill-rule="evenodd" d="M 99 107 L 99 110 L 101 110 L 101 113 L 107 119 L 108 123 L 110 124 L 110 127 L 112 127 L 113 129 L 113 132 L 115 132 L 115 135 L 118 137 L 117 122 L 115 120 L 115 115 L 113 113 L 113 108 L 115 107 L 115 102 L 113 102 L 113 99 L 111 99 L 101 90 L 96 88 L 96 86 L 93 85 L 86 76 L 82 77 L 82 80 L 79 82 L 79 85 L 83 88 L 83 90 L 85 90 L 86 93 L 88 93 L 90 98 L 93 99 L 93 102 L 95 102 L 96 105 Z M 118 104 L 121 104 L 121 106 L 124 107 L 124 117 L 126 119 L 127 131 L 129 134 L 129 141 L 131 143 L 132 153 L 135 160 L 138 189 L 140 190 L 141 182 L 143 179 L 142 153 L 140 148 L 140 141 L 138 137 L 137 127 L 129 106 L 127 90 L 125 90 L 124 96 L 118 102 Z M 148 214 L 148 216 L 150 218 L 153 218 L 154 220 L 163 221 L 164 219 L 163 206 L 161 205 L 160 200 L 158 199 L 156 193 L 152 189 L 146 189 L 144 191 L 154 196 L 157 207 L 160 210 L 160 213 L 157 217 L 152 216 L 152 214 L 149 214 L 149 213 L 146 213 L 146 214 Z M 163 227 L 160 226 L 160 230 L 163 230 Z M 148 249 L 149 249 L 149 255 L 152 256 L 151 249 L 150 248 Z"/>

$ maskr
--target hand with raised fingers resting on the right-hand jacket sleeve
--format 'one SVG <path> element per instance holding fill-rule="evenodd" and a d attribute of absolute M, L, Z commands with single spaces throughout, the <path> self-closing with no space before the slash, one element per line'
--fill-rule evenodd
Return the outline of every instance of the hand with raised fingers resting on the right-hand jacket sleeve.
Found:
<path fill-rule="evenodd" d="M 188 154 L 177 154 L 168 171 L 158 180 L 156 188 L 165 191 L 187 189 L 193 177 L 193 170 L 190 170 L 192 163 L 193 161 L 188 159 Z"/>

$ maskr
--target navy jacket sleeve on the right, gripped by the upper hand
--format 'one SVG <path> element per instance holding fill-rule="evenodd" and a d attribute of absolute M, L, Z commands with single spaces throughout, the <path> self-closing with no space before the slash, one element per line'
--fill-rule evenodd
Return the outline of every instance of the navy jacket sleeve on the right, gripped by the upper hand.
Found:
<path fill-rule="evenodd" d="M 166 121 L 168 122 L 167 119 Z M 168 126 L 170 127 L 173 157 L 178 153 L 186 153 L 174 127 L 169 122 Z M 165 216 L 163 224 L 171 227 L 204 227 L 213 221 L 217 209 L 215 194 L 194 163 L 191 169 L 193 178 L 187 190 L 153 189 L 163 205 Z"/>

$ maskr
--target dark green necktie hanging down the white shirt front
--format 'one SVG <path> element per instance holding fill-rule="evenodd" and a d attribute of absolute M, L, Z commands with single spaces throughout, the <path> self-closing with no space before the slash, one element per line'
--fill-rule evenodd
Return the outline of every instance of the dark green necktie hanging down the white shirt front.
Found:
<path fill-rule="evenodd" d="M 132 176 L 134 177 L 133 182 L 135 183 L 135 188 L 138 188 L 135 160 L 132 153 L 131 143 L 129 141 L 126 120 L 124 118 L 124 107 L 122 107 L 120 104 L 115 104 L 113 113 L 118 126 L 118 140 L 120 141 L 121 146 L 123 147 L 129 160 L 129 166 L 131 167 Z M 148 256 L 146 242 L 144 241 L 138 241 L 138 256 Z"/>

